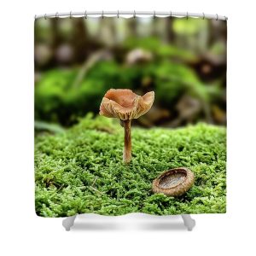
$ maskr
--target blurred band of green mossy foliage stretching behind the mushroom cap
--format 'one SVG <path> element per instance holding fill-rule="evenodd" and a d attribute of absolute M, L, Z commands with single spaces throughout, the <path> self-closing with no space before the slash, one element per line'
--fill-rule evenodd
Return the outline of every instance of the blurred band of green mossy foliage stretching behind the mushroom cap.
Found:
<path fill-rule="evenodd" d="M 36 119 L 72 125 L 89 111 L 98 113 L 102 96 L 108 89 L 145 90 L 144 79 L 150 81 L 155 101 L 171 111 L 183 94 L 209 103 L 219 98 L 221 91 L 218 85 L 202 84 L 191 68 L 172 61 L 133 66 L 101 61 L 88 71 L 78 86 L 73 86 L 77 75 L 77 69 L 44 73 L 35 87 Z"/>

